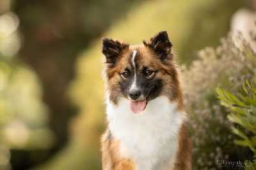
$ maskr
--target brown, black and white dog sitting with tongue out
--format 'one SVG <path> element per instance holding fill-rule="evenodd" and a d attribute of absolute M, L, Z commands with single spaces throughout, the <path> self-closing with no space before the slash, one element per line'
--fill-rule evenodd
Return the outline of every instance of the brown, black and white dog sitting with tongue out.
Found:
<path fill-rule="evenodd" d="M 102 169 L 191 169 L 179 69 L 166 31 L 141 45 L 102 39 Z"/>

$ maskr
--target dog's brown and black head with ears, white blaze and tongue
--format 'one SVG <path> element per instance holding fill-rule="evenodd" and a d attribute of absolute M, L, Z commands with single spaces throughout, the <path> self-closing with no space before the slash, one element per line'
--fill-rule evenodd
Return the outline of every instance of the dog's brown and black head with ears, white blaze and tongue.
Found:
<path fill-rule="evenodd" d="M 179 80 L 166 31 L 161 31 L 143 45 L 130 46 L 104 38 L 102 53 L 106 56 L 107 94 L 113 104 L 127 98 L 131 111 L 138 113 L 147 102 L 165 95 L 177 97 Z"/>

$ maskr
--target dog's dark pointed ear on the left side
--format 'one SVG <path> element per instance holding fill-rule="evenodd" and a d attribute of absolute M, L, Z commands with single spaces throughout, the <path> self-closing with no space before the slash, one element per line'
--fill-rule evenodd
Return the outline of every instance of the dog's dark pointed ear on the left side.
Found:
<path fill-rule="evenodd" d="M 106 63 L 115 64 L 122 50 L 129 47 L 129 44 L 102 38 L 102 53 L 106 57 Z"/>

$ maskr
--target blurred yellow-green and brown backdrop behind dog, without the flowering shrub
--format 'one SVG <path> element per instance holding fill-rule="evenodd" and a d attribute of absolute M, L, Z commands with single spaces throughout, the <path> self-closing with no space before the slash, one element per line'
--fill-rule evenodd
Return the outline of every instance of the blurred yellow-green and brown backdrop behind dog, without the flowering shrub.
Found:
<path fill-rule="evenodd" d="M 245 4 L 1 0 L 0 169 L 100 169 L 101 38 L 138 44 L 166 30 L 189 67 L 198 50 L 220 45 Z"/>

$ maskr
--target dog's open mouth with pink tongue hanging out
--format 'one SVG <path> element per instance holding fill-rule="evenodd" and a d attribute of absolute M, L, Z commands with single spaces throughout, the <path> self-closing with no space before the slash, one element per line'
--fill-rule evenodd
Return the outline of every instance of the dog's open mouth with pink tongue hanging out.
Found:
<path fill-rule="evenodd" d="M 148 103 L 148 99 L 151 97 L 153 91 L 154 91 L 154 87 L 150 90 L 150 92 L 148 93 L 147 97 L 144 98 L 143 100 L 131 101 L 130 102 L 130 110 L 133 113 L 135 113 L 135 114 L 143 111 L 146 108 L 147 103 Z"/>

